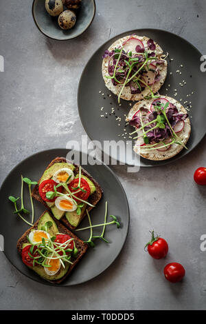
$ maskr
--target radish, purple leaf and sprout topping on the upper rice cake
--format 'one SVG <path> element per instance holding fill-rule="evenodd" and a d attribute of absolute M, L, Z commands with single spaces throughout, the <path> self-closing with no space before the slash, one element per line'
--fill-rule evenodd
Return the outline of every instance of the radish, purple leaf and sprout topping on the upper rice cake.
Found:
<path fill-rule="evenodd" d="M 125 87 L 130 87 L 131 94 L 140 94 L 145 88 L 155 95 L 152 88 L 161 81 L 161 70 L 166 61 L 157 55 L 156 45 L 152 39 L 145 46 L 139 39 L 130 36 L 122 45 L 109 52 L 106 50 L 103 59 L 108 60 L 107 79 L 113 85 L 120 85 L 118 102 Z"/>

